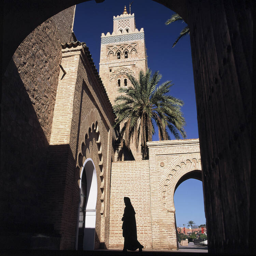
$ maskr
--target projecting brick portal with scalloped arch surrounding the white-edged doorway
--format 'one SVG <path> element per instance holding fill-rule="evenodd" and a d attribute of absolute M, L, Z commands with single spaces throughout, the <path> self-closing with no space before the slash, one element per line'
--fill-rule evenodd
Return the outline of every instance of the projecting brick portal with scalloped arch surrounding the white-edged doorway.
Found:
<path fill-rule="evenodd" d="M 68 144 L 74 163 L 63 170 L 64 193 L 49 195 L 60 208 L 59 220 L 54 225 L 62 234 L 61 249 L 75 247 L 79 180 L 87 158 L 93 160 L 97 173 L 95 249 L 108 246 L 105 241 L 109 233 L 107 209 L 114 115 L 90 61 L 87 47 L 63 46 L 61 65 L 66 74 L 59 75 L 50 145 Z M 51 183 L 49 187 L 54 185 Z"/>

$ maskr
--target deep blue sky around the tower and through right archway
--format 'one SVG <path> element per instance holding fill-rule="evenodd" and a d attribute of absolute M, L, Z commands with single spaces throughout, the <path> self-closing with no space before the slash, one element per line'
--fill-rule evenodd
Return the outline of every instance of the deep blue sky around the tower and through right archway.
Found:
<path fill-rule="evenodd" d="M 131 2 L 131 1 L 130 1 Z M 88 1 L 76 5 L 74 33 L 77 40 L 86 42 L 99 70 L 101 33 L 113 32 L 113 16 L 123 13 L 124 5 L 129 12 L 129 1 L 105 0 L 102 3 Z M 186 119 L 187 139 L 198 138 L 197 111 L 194 77 L 189 36 L 181 39 L 174 48 L 173 42 L 185 23 L 166 26 L 173 11 L 150 0 L 134 0 L 131 13 L 135 14 L 136 27 L 144 28 L 148 67 L 162 74 L 160 83 L 172 80 L 170 94 L 184 101 L 182 112 Z M 171 136 L 172 139 L 174 137 Z M 153 141 L 158 140 L 158 132 Z M 195 199 L 196 198 L 196 199 Z M 202 182 L 189 179 L 183 182 L 174 195 L 177 226 L 193 220 L 205 223 Z"/>

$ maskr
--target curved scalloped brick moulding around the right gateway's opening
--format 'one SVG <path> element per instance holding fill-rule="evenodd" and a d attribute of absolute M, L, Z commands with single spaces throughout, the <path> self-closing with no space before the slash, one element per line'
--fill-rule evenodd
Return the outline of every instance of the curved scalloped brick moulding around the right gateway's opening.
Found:
<path fill-rule="evenodd" d="M 176 184 L 183 175 L 194 170 L 202 170 L 200 153 L 183 154 L 172 161 L 159 182 L 159 207 L 175 212 L 173 196 Z"/>

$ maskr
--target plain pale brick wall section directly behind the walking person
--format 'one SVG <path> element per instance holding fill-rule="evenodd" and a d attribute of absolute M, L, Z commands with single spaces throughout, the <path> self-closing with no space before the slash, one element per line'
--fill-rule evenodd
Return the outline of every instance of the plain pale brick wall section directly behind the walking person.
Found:
<path fill-rule="evenodd" d="M 110 190 L 110 248 L 123 248 L 122 217 L 124 197 L 129 197 L 136 212 L 138 241 L 152 248 L 150 180 L 148 160 L 113 162 Z"/>

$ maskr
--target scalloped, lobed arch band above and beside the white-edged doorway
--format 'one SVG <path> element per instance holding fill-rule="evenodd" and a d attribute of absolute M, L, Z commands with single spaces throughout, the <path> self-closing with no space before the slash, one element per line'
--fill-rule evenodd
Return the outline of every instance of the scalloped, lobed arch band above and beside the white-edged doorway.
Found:
<path fill-rule="evenodd" d="M 99 157 L 99 168 L 100 168 L 100 191 L 101 191 L 101 209 L 100 209 L 100 214 L 103 216 L 104 213 L 104 196 L 105 196 L 105 191 L 104 191 L 104 167 L 103 167 L 103 156 L 102 156 L 102 145 L 100 141 L 100 132 L 99 132 L 99 123 L 98 120 L 95 120 L 95 122 L 91 123 L 91 125 L 87 128 L 87 132 L 85 133 L 83 137 L 83 141 L 81 142 L 80 145 L 80 151 L 78 152 L 78 157 L 77 157 L 77 163 L 76 163 L 76 169 L 78 172 L 82 170 L 83 165 L 85 161 L 87 160 L 87 156 L 85 153 L 85 150 L 83 148 L 85 147 L 85 141 L 89 138 L 89 133 L 90 132 L 95 132 L 97 134 L 97 140 L 96 144 L 98 146 L 98 157 Z"/>

